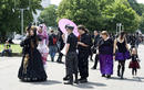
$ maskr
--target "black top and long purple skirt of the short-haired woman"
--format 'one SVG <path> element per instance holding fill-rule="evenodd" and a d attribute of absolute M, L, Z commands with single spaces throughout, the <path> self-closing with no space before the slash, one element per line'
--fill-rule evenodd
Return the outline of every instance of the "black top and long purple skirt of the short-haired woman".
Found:
<path fill-rule="evenodd" d="M 99 44 L 100 70 L 102 75 L 113 75 L 113 41 L 100 41 Z"/>

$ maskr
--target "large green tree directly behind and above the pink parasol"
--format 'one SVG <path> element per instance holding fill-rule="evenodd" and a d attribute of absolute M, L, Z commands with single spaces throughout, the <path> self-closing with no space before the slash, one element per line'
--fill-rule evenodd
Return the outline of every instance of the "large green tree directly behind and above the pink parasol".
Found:
<path fill-rule="evenodd" d="M 102 27 L 97 0 L 62 0 L 58 8 L 58 21 L 63 18 L 76 24 L 83 24 L 89 30 Z"/>

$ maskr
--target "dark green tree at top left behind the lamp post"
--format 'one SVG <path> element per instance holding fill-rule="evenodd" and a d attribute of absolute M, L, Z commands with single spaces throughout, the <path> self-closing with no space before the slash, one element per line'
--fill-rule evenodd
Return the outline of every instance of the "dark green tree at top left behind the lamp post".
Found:
<path fill-rule="evenodd" d="M 0 35 L 6 37 L 9 32 L 20 32 L 20 8 L 24 11 L 24 27 L 33 21 L 32 13 L 37 9 L 42 9 L 41 0 L 0 0 Z"/>

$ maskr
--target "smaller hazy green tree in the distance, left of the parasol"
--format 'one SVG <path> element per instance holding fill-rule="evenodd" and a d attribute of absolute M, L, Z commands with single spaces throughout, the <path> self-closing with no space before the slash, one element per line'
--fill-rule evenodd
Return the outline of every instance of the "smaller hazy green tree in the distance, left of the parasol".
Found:
<path fill-rule="evenodd" d="M 47 26 L 53 26 L 53 27 L 55 27 L 56 26 L 56 18 L 58 18 L 58 15 L 56 15 L 56 8 L 58 7 L 54 5 L 54 4 L 51 4 L 48 8 L 45 8 L 41 12 L 41 14 L 39 16 L 39 21 L 41 23 L 45 23 Z"/>

